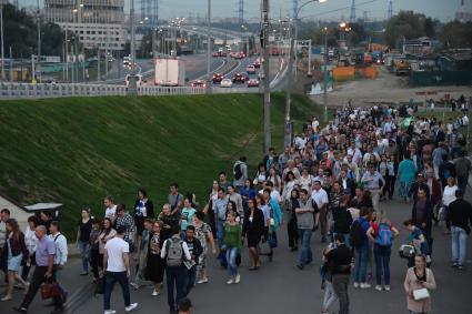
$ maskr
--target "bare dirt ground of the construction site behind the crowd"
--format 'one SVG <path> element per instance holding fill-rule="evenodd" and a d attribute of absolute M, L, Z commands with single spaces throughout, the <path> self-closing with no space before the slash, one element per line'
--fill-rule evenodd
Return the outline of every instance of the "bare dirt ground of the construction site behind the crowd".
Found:
<path fill-rule="evenodd" d="M 351 100 L 352 105 L 365 105 L 373 102 L 408 102 L 424 101 L 425 95 L 418 95 L 416 92 L 436 92 L 429 94 L 428 99 L 439 100 L 444 94 L 459 98 L 464 94 L 466 99 L 472 97 L 472 87 L 425 87 L 410 88 L 406 84 L 408 78 L 396 77 L 390 73 L 384 67 L 379 67 L 379 77 L 374 80 L 360 79 L 339 84 L 328 94 L 329 105 L 345 105 Z M 323 103 L 323 95 L 311 97 L 318 103 Z"/>

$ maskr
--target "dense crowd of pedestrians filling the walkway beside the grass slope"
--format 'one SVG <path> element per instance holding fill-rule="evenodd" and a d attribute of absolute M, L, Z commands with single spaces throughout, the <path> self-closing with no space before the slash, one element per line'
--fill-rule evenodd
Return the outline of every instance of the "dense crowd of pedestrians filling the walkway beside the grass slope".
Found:
<path fill-rule="evenodd" d="M 130 286 L 139 290 L 151 283 L 152 296 L 157 296 L 165 277 L 173 313 L 189 307 L 187 296 L 195 285 L 209 282 L 210 256 L 227 270 L 227 284 L 238 284 L 243 280 L 239 272 L 243 246 L 249 270 L 257 272 L 261 255 L 272 261 L 280 251 L 275 250 L 278 239 L 287 225 L 290 251 L 300 252 L 299 270 L 313 262 L 312 235 L 319 232 L 325 246 L 320 267 L 321 311 L 329 313 L 339 300 L 340 313 L 345 314 L 351 278 L 354 288 L 373 284 L 376 291 L 390 291 L 392 243 L 405 232 L 406 306 L 411 314 L 429 313 L 428 291 L 435 288 L 431 269 L 434 225 L 444 221 L 439 227 L 451 236 L 451 265 L 462 270 L 465 264 L 472 206 L 464 194 L 472 165 L 465 156 L 466 136 L 460 132 L 461 125 L 412 113 L 384 105 L 349 105 L 339 109 L 323 128 L 313 118 L 281 154 L 270 149 L 253 175 L 244 156 L 234 163 L 232 181 L 221 171 L 204 205 L 194 194 L 180 193 L 178 183 L 170 185 L 161 211 L 143 189 L 130 211 L 107 196 L 103 219 L 92 217 L 86 209 L 78 223 L 81 275 L 91 273 L 98 285 L 104 286 L 106 314 L 116 313 L 110 307 L 116 282 L 130 312 L 138 306 L 130 301 Z M 403 231 L 382 205 L 393 197 L 412 207 Z M 60 281 L 67 240 L 60 224 L 47 213 L 39 220 L 31 216 L 24 233 L 9 219 L 8 210 L 2 211 L 2 269 L 9 284 L 2 301 L 11 300 L 18 282 L 28 293 L 17 311 L 27 313 L 44 276 Z M 370 263 L 374 273 L 369 273 Z M 29 280 L 32 264 L 36 269 Z M 62 312 L 67 301 L 66 288 L 59 286 L 53 313 Z"/>

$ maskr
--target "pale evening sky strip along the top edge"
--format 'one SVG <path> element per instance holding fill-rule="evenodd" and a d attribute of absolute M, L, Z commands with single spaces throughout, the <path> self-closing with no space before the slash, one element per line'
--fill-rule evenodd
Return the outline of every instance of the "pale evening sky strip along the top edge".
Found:
<path fill-rule="evenodd" d="M 139 12 L 140 0 L 135 0 Z M 173 17 L 207 17 L 207 0 L 158 0 L 160 16 L 163 19 Z M 269 0 L 270 16 L 274 19 L 291 17 L 293 0 Z M 315 20 L 349 20 L 352 0 L 327 0 L 324 3 L 310 3 L 300 11 L 300 18 Z M 461 1 L 464 1 L 464 11 L 472 12 L 472 0 L 393 0 L 393 13 L 400 10 L 413 10 L 441 21 L 454 19 L 455 12 L 461 10 Z M 20 6 L 31 6 L 36 0 L 19 0 Z M 125 10 L 129 9 L 130 0 L 124 0 Z M 299 6 L 307 0 L 299 0 Z M 368 20 L 382 20 L 386 18 L 389 0 L 355 0 L 356 18 L 362 18 L 364 12 Z M 212 17 L 237 18 L 239 0 L 212 0 Z M 257 22 L 260 17 L 261 0 L 244 0 L 244 19 Z"/>

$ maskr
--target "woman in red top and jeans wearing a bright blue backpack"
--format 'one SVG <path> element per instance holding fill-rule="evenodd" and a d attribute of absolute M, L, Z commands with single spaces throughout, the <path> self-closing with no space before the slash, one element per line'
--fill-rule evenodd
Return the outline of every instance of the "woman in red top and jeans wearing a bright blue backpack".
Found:
<path fill-rule="evenodd" d="M 388 220 L 384 212 L 380 212 L 378 221 L 371 223 L 368 230 L 369 240 L 373 243 L 373 255 L 375 260 L 375 280 L 376 291 L 382 291 L 382 275 L 384 281 L 383 288 L 390 291 L 390 257 L 392 255 L 392 240 L 400 232 Z"/>

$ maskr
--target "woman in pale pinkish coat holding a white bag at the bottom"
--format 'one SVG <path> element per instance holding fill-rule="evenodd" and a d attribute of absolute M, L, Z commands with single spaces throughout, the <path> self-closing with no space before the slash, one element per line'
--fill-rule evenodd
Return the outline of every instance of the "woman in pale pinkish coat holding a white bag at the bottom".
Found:
<path fill-rule="evenodd" d="M 436 288 L 436 283 L 433 272 L 426 267 L 425 255 L 416 254 L 414 256 L 414 266 L 406 271 L 403 286 L 406 293 L 406 308 L 410 314 L 428 314 L 431 312 L 430 291 Z"/>

